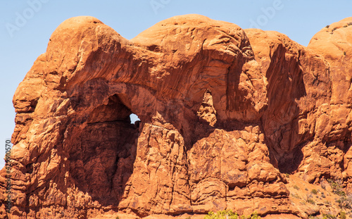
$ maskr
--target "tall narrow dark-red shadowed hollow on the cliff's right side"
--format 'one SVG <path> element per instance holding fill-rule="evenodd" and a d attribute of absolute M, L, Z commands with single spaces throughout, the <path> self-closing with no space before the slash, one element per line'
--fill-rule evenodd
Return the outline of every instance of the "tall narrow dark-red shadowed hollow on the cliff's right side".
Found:
<path fill-rule="evenodd" d="M 297 103 L 307 96 L 303 71 L 295 56 L 280 44 L 271 56 L 266 77 L 268 108 L 261 118 L 265 144 L 272 165 L 282 173 L 292 173 L 303 159 L 303 144 L 312 138 L 309 133 L 299 133 L 298 122 L 308 113 L 301 113 Z"/>

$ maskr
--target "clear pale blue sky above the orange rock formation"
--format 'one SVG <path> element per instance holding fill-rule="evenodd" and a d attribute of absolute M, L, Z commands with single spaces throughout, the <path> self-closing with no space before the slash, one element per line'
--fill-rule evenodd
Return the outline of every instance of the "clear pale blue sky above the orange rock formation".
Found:
<path fill-rule="evenodd" d="M 1 0 L 0 168 L 5 140 L 15 126 L 12 97 L 33 62 L 46 50 L 51 33 L 64 20 L 91 15 L 132 39 L 139 32 L 174 15 L 197 13 L 246 29 L 276 30 L 308 45 L 322 27 L 352 16 L 350 0 Z"/>

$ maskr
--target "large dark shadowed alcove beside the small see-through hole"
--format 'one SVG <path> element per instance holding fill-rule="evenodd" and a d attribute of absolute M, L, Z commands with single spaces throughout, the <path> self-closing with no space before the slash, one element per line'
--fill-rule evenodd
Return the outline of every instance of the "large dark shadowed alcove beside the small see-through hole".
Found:
<path fill-rule="evenodd" d="M 114 94 L 89 113 L 83 129 L 70 131 L 73 184 L 102 206 L 118 208 L 133 173 L 139 129 L 131 125 L 130 115 L 130 108 Z"/>

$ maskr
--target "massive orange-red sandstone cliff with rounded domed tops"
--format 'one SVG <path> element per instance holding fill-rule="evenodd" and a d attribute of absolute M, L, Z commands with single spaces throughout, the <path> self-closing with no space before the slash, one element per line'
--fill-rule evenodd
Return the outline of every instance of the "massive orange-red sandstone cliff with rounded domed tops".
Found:
<path fill-rule="evenodd" d="M 352 18 L 308 47 L 201 15 L 130 41 L 96 18 L 66 20 L 13 97 L 12 217 L 304 217 L 285 173 L 352 189 L 351 45 Z"/>

